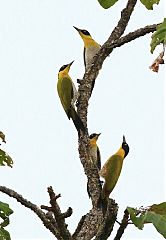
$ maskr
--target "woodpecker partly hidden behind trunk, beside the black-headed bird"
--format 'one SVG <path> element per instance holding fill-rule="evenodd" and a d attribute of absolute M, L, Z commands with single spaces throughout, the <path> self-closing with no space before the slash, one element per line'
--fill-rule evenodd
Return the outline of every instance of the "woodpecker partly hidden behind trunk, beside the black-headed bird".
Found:
<path fill-rule="evenodd" d="M 100 171 L 100 169 L 101 169 L 101 155 L 100 155 L 99 147 L 97 146 L 97 140 L 98 140 L 98 137 L 100 136 L 100 134 L 101 133 L 92 133 L 89 136 L 90 157 L 91 157 L 91 160 L 93 161 L 93 163 L 96 165 L 98 171 Z M 90 196 L 88 184 L 87 184 L 87 192 L 88 192 L 88 195 L 90 198 L 91 196 Z"/>

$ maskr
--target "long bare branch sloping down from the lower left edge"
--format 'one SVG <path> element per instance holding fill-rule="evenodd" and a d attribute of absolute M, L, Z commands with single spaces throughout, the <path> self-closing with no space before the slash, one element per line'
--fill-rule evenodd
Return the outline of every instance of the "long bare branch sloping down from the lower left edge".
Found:
<path fill-rule="evenodd" d="M 58 240 L 63 240 L 59 231 L 54 227 L 51 221 L 48 219 L 46 214 L 35 204 L 31 203 L 27 199 L 23 198 L 20 194 L 4 186 L 0 186 L 0 191 L 7 194 L 8 196 L 15 198 L 19 203 L 21 203 L 26 208 L 31 209 L 43 222 L 44 226 L 53 233 L 53 235 Z"/>

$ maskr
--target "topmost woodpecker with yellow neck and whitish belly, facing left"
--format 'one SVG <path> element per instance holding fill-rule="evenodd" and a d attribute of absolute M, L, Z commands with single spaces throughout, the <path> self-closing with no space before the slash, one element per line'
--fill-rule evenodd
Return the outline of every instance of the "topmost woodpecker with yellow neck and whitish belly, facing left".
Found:
<path fill-rule="evenodd" d="M 74 26 L 73 26 L 74 27 Z M 84 42 L 84 52 L 83 52 L 83 57 L 84 57 L 84 65 L 85 65 L 85 70 L 87 71 L 89 67 L 92 64 L 93 57 L 98 53 L 98 51 L 101 48 L 101 45 L 98 44 L 90 35 L 90 33 L 85 30 L 85 29 L 79 29 L 77 27 L 74 27 L 78 33 L 80 34 L 83 42 Z M 91 87 L 91 93 L 93 91 L 95 85 L 95 81 L 92 82 L 92 87 Z"/>

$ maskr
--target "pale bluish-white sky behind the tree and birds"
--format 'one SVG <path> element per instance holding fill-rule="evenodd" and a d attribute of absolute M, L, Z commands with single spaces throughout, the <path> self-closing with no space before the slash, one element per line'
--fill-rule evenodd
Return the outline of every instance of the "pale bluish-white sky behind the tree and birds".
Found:
<path fill-rule="evenodd" d="M 76 83 L 84 73 L 83 42 L 73 25 L 87 29 L 104 43 L 127 1 L 104 10 L 88 0 L 0 1 L 0 131 L 2 146 L 14 160 L 13 169 L 1 167 L 1 185 L 12 188 L 37 205 L 48 204 L 47 187 L 61 193 L 58 200 L 73 214 L 71 232 L 91 202 L 86 176 L 78 158 L 77 133 L 60 104 L 59 68 L 75 60 L 70 76 Z M 139 2 L 126 33 L 164 18 L 164 1 L 154 11 Z M 119 204 L 118 220 L 127 206 L 149 206 L 165 201 L 164 192 L 164 66 L 158 74 L 149 66 L 161 50 L 150 53 L 151 34 L 115 49 L 105 61 L 89 102 L 89 133 L 98 141 L 102 165 L 121 145 L 130 146 L 120 179 L 111 197 Z M 0 201 L 14 210 L 7 230 L 13 239 L 55 239 L 37 216 L 0 193 Z M 115 236 L 117 226 L 114 234 Z M 123 239 L 163 239 L 152 225 L 143 231 L 129 226 Z"/>

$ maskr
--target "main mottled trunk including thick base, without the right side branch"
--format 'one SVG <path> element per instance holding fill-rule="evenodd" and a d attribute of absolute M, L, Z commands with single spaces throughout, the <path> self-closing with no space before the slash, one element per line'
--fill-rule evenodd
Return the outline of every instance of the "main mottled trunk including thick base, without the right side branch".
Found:
<path fill-rule="evenodd" d="M 87 127 L 87 114 L 88 114 L 88 101 L 91 96 L 92 83 L 98 76 L 99 70 L 102 67 L 102 64 L 107 57 L 108 43 L 114 43 L 117 41 L 121 35 L 124 33 L 127 24 L 129 22 L 130 16 L 134 10 L 137 0 L 128 0 L 126 7 L 121 12 L 121 18 L 111 33 L 109 39 L 101 47 L 98 54 L 94 56 L 93 63 L 91 67 L 85 72 L 83 80 L 79 85 L 79 98 L 78 98 L 78 115 L 81 117 L 84 126 Z M 109 49 L 110 50 L 110 49 Z M 88 142 L 88 132 L 81 134 L 79 136 L 79 156 L 81 163 L 84 167 L 85 174 L 88 178 L 88 187 L 91 195 L 92 210 L 86 215 L 85 219 L 81 219 L 81 227 L 78 226 L 74 233 L 74 239 L 79 240 L 89 240 L 97 234 L 96 240 L 106 239 L 106 236 L 109 236 L 117 215 L 117 206 L 112 208 L 114 212 L 114 217 L 112 217 L 112 212 L 110 205 L 108 204 L 107 213 L 103 219 L 103 211 L 100 205 L 100 196 L 101 196 L 101 184 L 99 180 L 98 169 L 93 162 L 89 160 L 89 142 Z M 108 214 L 109 213 L 109 214 Z M 109 218 L 111 216 L 111 218 Z M 110 224 L 110 225 L 109 225 Z M 109 225 L 109 228 L 108 228 Z M 100 231 L 98 232 L 98 229 Z M 78 231 L 79 230 L 79 231 Z M 104 235 L 104 231 L 106 234 Z"/>

